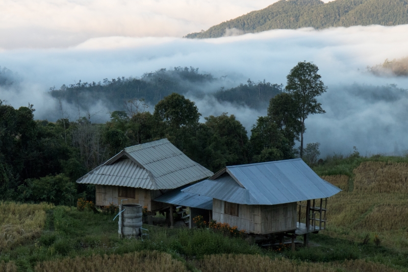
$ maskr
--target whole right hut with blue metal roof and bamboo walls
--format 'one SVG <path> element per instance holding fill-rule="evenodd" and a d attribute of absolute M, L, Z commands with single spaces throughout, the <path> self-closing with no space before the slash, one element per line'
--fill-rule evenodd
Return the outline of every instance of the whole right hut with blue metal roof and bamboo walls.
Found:
<path fill-rule="evenodd" d="M 327 197 L 341 190 L 293 159 L 227 166 L 182 191 L 212 197 L 213 219 L 247 233 L 301 235 L 325 228 Z"/>

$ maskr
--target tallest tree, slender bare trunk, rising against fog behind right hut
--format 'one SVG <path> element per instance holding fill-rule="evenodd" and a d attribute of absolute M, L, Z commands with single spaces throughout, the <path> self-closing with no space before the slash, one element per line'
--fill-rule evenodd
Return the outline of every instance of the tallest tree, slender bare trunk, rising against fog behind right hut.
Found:
<path fill-rule="evenodd" d="M 303 134 L 305 131 L 304 120 L 309 114 L 325 113 L 321 103 L 316 97 L 324 93 L 327 87 L 320 80 L 317 73 L 319 68 L 311 62 L 299 62 L 293 67 L 286 77 L 287 85 L 285 90 L 294 96 L 298 106 L 298 118 L 301 123 L 300 129 L 300 157 L 303 157 Z"/>

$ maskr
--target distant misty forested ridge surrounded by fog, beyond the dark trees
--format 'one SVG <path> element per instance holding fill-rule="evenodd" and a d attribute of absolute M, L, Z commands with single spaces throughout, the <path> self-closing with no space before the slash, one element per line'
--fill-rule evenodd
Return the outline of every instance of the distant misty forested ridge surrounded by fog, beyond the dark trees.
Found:
<path fill-rule="evenodd" d="M 231 82 L 225 81 L 226 76 L 215 78 L 211 73 L 200 73 L 198 68 L 174 67 L 144 73 L 140 79 L 117 78 L 104 79 L 102 82 L 81 82 L 63 85 L 60 89 L 50 88 L 50 94 L 58 100 L 75 107 L 87 109 L 95 101 L 103 101 L 109 109 L 122 109 L 123 101 L 135 97 L 144 99 L 149 105 L 156 105 L 163 97 L 176 92 L 202 97 L 214 95 L 222 102 L 247 105 L 252 108 L 267 107 L 270 98 L 282 92 L 282 85 L 260 81 L 228 88 Z"/>

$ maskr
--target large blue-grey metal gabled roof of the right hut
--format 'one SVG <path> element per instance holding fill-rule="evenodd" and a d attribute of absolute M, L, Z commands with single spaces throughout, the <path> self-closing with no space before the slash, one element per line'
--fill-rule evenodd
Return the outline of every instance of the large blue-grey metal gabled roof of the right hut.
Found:
<path fill-rule="evenodd" d="M 321 199 L 341 189 L 322 180 L 302 159 L 227 166 L 184 192 L 247 205 Z"/>

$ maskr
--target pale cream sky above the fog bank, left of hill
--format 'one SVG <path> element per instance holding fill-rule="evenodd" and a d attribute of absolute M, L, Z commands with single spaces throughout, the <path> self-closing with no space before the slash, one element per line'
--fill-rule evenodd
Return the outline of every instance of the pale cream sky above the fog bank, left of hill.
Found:
<path fill-rule="evenodd" d="M 276 0 L 2 0 L 0 48 L 75 46 L 90 38 L 182 37 Z"/>

